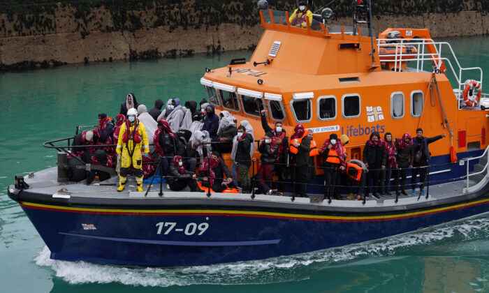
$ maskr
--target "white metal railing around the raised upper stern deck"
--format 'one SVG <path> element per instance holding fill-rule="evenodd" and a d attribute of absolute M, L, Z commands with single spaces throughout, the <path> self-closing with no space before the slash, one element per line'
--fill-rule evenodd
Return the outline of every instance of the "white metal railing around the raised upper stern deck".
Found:
<path fill-rule="evenodd" d="M 435 64 L 436 69 L 439 69 L 441 66 L 441 62 L 445 61 L 445 63 L 448 63 L 448 66 L 451 68 L 451 72 L 453 73 L 453 76 L 455 77 L 455 80 L 458 82 L 458 89 L 462 89 L 462 86 L 465 84 L 462 80 L 462 73 L 467 70 L 479 70 L 480 72 L 480 77 L 478 82 L 482 86 L 482 80 L 483 80 L 483 72 L 480 67 L 469 67 L 469 68 L 462 68 L 460 66 L 460 62 L 457 59 L 457 56 L 455 55 L 455 52 L 453 52 L 453 48 L 451 47 L 450 43 L 448 42 L 435 42 L 432 39 L 426 39 L 426 38 L 404 38 L 400 39 L 398 43 L 386 43 L 388 41 L 392 41 L 391 39 L 386 39 L 386 38 L 379 38 L 377 39 L 377 47 L 380 51 L 381 47 L 395 47 L 395 53 L 394 54 L 379 54 L 379 59 L 381 62 L 395 62 L 394 69 L 395 70 L 401 70 L 402 62 L 407 62 L 407 61 L 416 61 L 416 70 L 423 70 L 424 66 L 424 61 L 432 61 L 432 63 Z M 417 51 L 416 53 L 402 53 L 398 52 L 398 48 L 404 45 L 411 45 L 416 47 Z M 451 60 L 448 59 L 447 57 L 441 57 L 441 48 L 442 46 L 446 45 L 449 50 L 448 57 L 453 58 L 455 61 L 455 64 L 452 64 Z M 426 52 L 428 51 L 426 47 L 432 46 L 435 48 L 434 53 L 429 53 Z M 392 59 L 386 59 L 386 57 L 394 57 L 394 60 Z M 404 58 L 402 58 L 404 57 Z M 409 57 L 409 58 L 406 58 Z M 420 63 L 421 61 L 421 63 Z M 456 69 L 455 70 L 455 66 Z M 458 71 L 458 73 L 456 73 Z"/>

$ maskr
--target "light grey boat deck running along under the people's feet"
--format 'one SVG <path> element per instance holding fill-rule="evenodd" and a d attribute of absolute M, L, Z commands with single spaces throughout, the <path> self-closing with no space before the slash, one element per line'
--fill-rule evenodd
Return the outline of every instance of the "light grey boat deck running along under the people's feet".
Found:
<path fill-rule="evenodd" d="M 171 191 L 168 188 L 167 183 L 163 183 L 163 196 L 159 196 L 159 183 L 153 183 L 149 193 L 145 196 L 145 193 L 139 193 L 136 190 L 136 181 L 128 177 L 126 183 L 126 188 L 123 192 L 117 192 L 117 177 L 112 177 L 106 181 L 100 183 L 93 183 L 92 185 L 85 185 L 83 182 L 80 183 L 58 183 L 57 180 L 57 168 L 52 167 L 50 169 L 42 170 L 36 172 L 31 178 L 25 177 L 26 183 L 31 187 L 32 192 L 45 194 L 47 197 L 52 198 L 71 198 L 71 197 L 85 197 L 85 198 L 98 198 L 98 199 L 113 199 L 113 200 L 124 200 L 124 199 L 140 199 L 140 200 L 166 200 L 166 199 L 196 199 L 196 200 L 237 200 L 237 201 L 249 201 L 249 202 L 282 202 L 291 203 L 291 194 L 285 196 L 277 195 L 255 195 L 254 199 L 251 198 L 251 194 L 243 193 L 212 193 L 210 197 L 207 197 L 207 192 L 205 193 L 191 193 L 189 189 L 184 189 L 179 192 Z M 97 181 L 94 181 L 97 182 Z M 476 181 L 469 181 L 470 186 L 476 184 Z M 147 190 L 149 184 L 143 183 L 143 189 Z M 400 195 L 399 201 L 395 202 L 395 193 L 393 196 L 386 195 L 381 197 L 380 200 L 373 197 L 367 197 L 365 204 L 362 201 L 356 201 L 354 199 L 347 200 L 343 195 L 344 200 L 332 200 L 328 203 L 328 200 L 323 200 L 323 195 L 319 194 L 309 194 L 309 198 L 305 197 L 295 197 L 293 204 L 298 204 L 302 207 L 304 205 L 309 206 L 341 206 L 341 207 L 359 207 L 359 206 L 402 206 L 409 204 L 416 204 L 419 202 L 436 201 L 440 199 L 447 199 L 449 197 L 456 197 L 462 194 L 463 189 L 467 186 L 467 181 L 451 181 L 448 183 L 441 183 L 437 185 L 432 185 L 429 187 L 428 198 L 421 196 L 418 200 L 419 192 L 417 191 L 416 196 L 412 196 L 409 192 L 408 195 Z M 409 189 L 410 191 L 410 189 Z M 317 198 L 319 202 L 311 202 L 313 198 Z M 152 201 L 153 202 L 153 201 Z M 162 202 L 163 203 L 163 202 Z"/>

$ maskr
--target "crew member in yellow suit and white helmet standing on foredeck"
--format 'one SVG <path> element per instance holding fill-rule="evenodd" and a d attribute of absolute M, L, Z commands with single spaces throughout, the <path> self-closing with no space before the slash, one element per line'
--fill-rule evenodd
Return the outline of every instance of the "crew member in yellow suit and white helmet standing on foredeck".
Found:
<path fill-rule="evenodd" d="M 117 140 L 117 156 L 121 156 L 121 171 L 119 173 L 119 188 L 117 191 L 124 190 L 129 174 L 129 167 L 134 168 L 138 191 L 143 191 L 143 158 L 141 157 L 141 147 L 144 144 L 145 156 L 149 153 L 149 142 L 147 140 L 146 128 L 137 119 L 138 111 L 131 108 L 127 111 L 127 120 L 122 124 Z"/>

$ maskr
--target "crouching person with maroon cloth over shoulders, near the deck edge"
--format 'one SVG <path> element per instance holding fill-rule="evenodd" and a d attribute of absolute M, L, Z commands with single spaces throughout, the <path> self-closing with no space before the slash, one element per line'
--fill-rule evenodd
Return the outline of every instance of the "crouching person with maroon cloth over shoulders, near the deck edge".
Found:
<path fill-rule="evenodd" d="M 221 193 L 222 190 L 226 189 L 226 184 L 233 183 L 231 172 L 229 172 L 224 160 L 221 159 L 219 151 L 212 151 L 203 160 L 198 170 L 200 176 L 203 176 L 202 186 L 210 186 L 217 193 Z M 226 174 L 227 179 L 224 179 L 224 174 Z"/>

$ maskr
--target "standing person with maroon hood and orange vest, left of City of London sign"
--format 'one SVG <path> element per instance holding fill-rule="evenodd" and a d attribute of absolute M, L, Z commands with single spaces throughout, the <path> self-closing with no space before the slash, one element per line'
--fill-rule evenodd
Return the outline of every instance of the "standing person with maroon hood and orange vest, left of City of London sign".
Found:
<path fill-rule="evenodd" d="M 309 148 L 311 147 L 311 139 L 308 134 L 309 131 L 305 130 L 302 124 L 296 125 L 289 146 L 292 164 L 295 166 L 293 170 L 295 174 L 293 195 L 298 197 L 308 197 L 306 194 L 307 165 L 309 164 Z"/>

